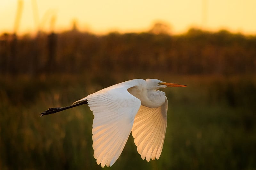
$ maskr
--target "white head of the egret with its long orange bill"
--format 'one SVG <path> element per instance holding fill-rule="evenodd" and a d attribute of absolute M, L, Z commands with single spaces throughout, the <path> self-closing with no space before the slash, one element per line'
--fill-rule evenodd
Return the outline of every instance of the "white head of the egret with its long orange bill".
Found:
<path fill-rule="evenodd" d="M 180 85 L 180 84 L 175 84 L 175 83 L 166 83 L 163 82 L 161 80 L 157 80 L 157 79 L 151 79 L 148 78 L 146 79 L 147 81 L 147 85 L 149 89 L 161 89 L 161 88 L 165 88 L 165 87 L 186 87 L 186 85 Z"/>

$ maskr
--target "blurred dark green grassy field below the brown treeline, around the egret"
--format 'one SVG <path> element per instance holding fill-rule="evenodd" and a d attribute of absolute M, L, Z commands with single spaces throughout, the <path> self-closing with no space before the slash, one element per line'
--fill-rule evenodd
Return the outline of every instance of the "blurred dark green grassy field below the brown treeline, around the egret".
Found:
<path fill-rule="evenodd" d="M 255 76 L 42 75 L 0 79 L 0 169 L 102 169 L 85 105 L 39 117 L 133 78 L 188 85 L 164 89 L 169 109 L 159 160 L 142 160 L 132 136 L 106 169 L 256 169 Z"/>

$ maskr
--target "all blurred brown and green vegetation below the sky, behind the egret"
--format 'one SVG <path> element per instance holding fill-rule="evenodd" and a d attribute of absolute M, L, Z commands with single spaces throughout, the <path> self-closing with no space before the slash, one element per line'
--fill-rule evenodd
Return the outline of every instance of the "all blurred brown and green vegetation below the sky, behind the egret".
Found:
<path fill-rule="evenodd" d="M 107 169 L 256 168 L 255 36 L 73 30 L 3 34 L 0 45 L 0 169 L 102 169 L 87 106 L 39 113 L 134 78 L 188 87 L 163 90 L 169 109 L 160 159 L 142 160 L 131 136 Z"/>

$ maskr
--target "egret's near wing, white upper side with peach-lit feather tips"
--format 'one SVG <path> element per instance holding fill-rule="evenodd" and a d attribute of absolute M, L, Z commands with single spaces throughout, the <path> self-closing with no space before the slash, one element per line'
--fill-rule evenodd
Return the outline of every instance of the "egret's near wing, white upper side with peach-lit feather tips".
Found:
<path fill-rule="evenodd" d="M 131 82 L 120 83 L 77 101 L 87 100 L 93 112 L 93 156 L 102 167 L 112 166 L 116 162 L 131 133 L 134 117 L 141 104 L 127 91 L 133 86 Z"/>

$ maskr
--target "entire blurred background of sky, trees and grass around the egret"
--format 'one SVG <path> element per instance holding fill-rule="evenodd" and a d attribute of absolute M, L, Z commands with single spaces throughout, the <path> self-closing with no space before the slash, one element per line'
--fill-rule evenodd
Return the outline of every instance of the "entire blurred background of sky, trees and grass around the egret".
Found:
<path fill-rule="evenodd" d="M 101 169 L 87 106 L 134 78 L 163 89 L 159 160 L 132 136 L 107 169 L 256 169 L 256 1 L 0 1 L 0 169 Z"/>

